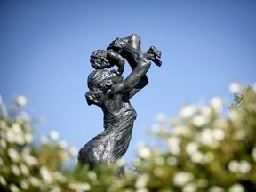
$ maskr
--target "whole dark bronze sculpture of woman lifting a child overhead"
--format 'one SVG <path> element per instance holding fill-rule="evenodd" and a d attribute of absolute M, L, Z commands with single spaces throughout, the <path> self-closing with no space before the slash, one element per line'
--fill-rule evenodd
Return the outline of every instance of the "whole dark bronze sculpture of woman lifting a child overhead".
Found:
<path fill-rule="evenodd" d="M 146 73 L 150 60 L 161 66 L 161 51 L 151 46 L 148 52 L 140 51 L 140 36 L 131 35 L 116 38 L 107 51 L 92 52 L 91 63 L 95 70 L 88 76 L 90 89 L 85 94 L 88 105 L 99 106 L 104 114 L 104 131 L 92 138 L 80 149 L 78 162 L 89 164 L 115 164 L 127 151 L 136 111 L 129 99 L 148 84 Z M 132 68 L 129 76 L 123 79 L 124 59 Z M 105 68 L 117 66 L 117 70 Z M 124 173 L 124 168 L 117 174 Z"/>

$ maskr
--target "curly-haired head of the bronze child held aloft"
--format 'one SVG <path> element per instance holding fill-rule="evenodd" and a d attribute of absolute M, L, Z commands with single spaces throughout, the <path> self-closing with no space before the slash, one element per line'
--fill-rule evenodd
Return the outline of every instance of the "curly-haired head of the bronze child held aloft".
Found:
<path fill-rule="evenodd" d="M 111 64 L 107 60 L 107 51 L 97 50 L 92 52 L 90 62 L 95 69 L 111 68 Z"/>

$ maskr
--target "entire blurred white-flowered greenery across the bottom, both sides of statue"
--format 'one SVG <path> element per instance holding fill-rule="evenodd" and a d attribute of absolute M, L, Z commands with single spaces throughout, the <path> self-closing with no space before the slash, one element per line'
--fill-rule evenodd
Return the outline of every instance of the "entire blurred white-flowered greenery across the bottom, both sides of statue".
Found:
<path fill-rule="evenodd" d="M 235 100 L 212 98 L 205 106 L 186 105 L 172 119 L 157 116 L 151 133 L 156 147 L 141 145 L 126 174 L 116 166 L 65 164 L 76 148 L 50 132 L 36 144 L 24 96 L 7 108 L 0 98 L 0 191 L 256 191 L 256 91 L 231 84 Z"/>

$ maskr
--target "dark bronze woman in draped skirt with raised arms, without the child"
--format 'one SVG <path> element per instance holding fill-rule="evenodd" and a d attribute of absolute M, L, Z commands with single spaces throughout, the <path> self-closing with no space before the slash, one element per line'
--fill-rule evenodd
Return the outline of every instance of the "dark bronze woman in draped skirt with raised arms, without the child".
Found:
<path fill-rule="evenodd" d="M 115 72 L 96 69 L 88 76 L 89 105 L 99 106 L 104 114 L 104 131 L 80 149 L 78 161 L 82 164 L 115 164 L 124 156 L 131 137 L 136 111 L 129 99 L 148 84 L 146 73 L 150 61 L 131 44 L 116 39 L 111 48 L 125 55 L 132 73 L 123 79 Z"/>

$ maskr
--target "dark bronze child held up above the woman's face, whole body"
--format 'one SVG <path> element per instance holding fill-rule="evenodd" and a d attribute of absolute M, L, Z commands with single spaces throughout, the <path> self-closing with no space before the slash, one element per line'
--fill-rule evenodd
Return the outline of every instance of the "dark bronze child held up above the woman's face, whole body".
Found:
<path fill-rule="evenodd" d="M 124 72 L 124 59 L 126 58 L 125 52 L 122 52 L 118 47 L 118 44 L 130 44 L 133 48 L 140 51 L 148 60 L 152 60 L 157 66 L 161 66 L 162 62 L 158 58 L 161 58 L 162 52 L 157 50 L 155 46 L 151 46 L 148 52 L 142 52 L 140 50 L 140 36 L 132 34 L 124 38 L 117 38 L 111 44 L 109 44 L 107 51 L 97 50 L 92 52 L 91 64 L 95 69 L 111 68 L 115 65 L 117 70 L 112 70 L 118 76 L 121 76 Z M 133 68 L 132 68 L 133 69 Z"/>

